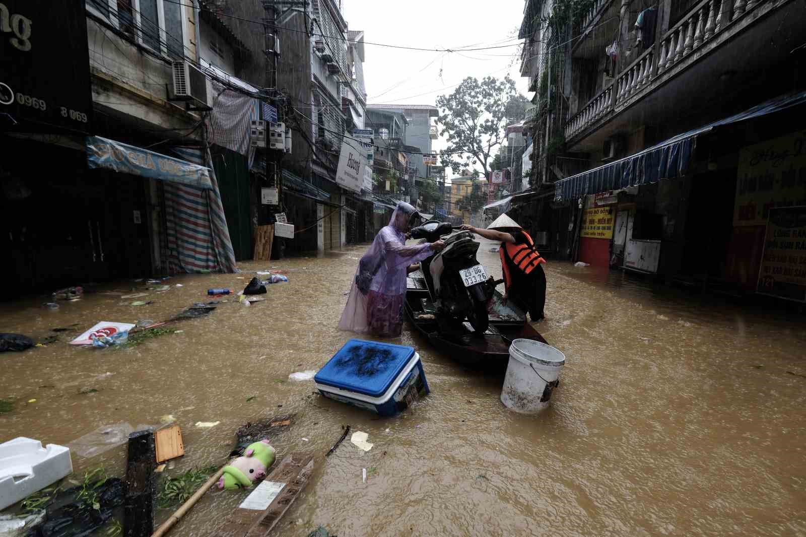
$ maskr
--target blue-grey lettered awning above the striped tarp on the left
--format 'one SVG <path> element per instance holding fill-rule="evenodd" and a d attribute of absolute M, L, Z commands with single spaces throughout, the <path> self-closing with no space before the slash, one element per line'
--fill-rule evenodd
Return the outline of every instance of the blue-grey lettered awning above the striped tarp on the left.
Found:
<path fill-rule="evenodd" d="M 100 136 L 87 136 L 87 165 L 120 173 L 212 189 L 210 169 Z"/>

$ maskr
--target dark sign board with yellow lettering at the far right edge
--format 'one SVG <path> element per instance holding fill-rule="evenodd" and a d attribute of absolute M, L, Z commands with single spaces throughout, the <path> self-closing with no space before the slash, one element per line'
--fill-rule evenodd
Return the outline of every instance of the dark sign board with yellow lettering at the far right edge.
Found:
<path fill-rule="evenodd" d="M 806 206 L 770 209 L 756 290 L 806 302 Z"/>

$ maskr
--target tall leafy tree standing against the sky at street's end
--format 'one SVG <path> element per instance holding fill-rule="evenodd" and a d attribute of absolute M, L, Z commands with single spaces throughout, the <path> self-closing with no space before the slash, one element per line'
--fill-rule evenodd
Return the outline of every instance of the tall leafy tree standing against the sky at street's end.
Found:
<path fill-rule="evenodd" d="M 448 140 L 442 165 L 451 166 L 459 174 L 463 167 L 479 164 L 484 177 L 488 177 L 492 150 L 505 139 L 507 114 L 517 110 L 524 100 L 509 75 L 504 80 L 467 77 L 452 94 L 440 95 L 436 105 L 444 112 L 439 116 L 441 134 Z"/>

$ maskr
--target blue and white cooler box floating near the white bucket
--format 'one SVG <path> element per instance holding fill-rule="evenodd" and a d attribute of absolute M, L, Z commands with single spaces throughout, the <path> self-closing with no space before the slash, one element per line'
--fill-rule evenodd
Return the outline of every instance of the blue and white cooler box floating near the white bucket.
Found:
<path fill-rule="evenodd" d="M 351 339 L 314 377 L 326 398 L 393 416 L 430 393 L 411 347 Z"/>

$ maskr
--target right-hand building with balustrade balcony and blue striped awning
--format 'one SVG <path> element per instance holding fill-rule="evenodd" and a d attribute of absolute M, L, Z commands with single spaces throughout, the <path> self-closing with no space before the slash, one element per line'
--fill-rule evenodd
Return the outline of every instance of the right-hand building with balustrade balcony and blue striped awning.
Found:
<path fill-rule="evenodd" d="M 786 149 L 802 139 L 802 6 L 599 0 L 558 30 L 556 2 L 526 2 L 520 33 L 534 231 L 562 256 L 756 289 L 771 208 L 806 202 L 758 157 L 803 166 Z"/>

